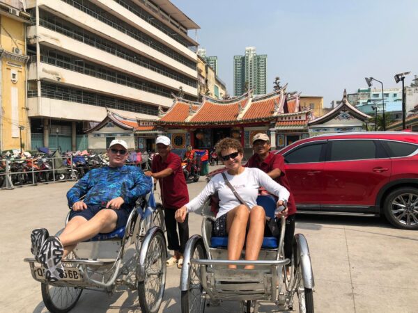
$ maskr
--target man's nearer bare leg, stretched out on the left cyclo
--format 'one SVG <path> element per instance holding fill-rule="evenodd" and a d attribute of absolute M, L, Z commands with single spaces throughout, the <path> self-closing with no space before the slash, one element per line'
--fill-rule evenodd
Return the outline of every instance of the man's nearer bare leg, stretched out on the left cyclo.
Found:
<path fill-rule="evenodd" d="M 69 246 L 75 246 L 80 241 L 84 241 L 92 238 L 100 232 L 111 232 L 116 227 L 116 221 L 118 216 L 116 212 L 109 209 L 102 209 L 91 220 L 87 220 L 85 223 L 79 223 L 78 227 L 72 230 L 72 232 L 63 232 L 59 236 L 59 240 L 65 248 Z"/>

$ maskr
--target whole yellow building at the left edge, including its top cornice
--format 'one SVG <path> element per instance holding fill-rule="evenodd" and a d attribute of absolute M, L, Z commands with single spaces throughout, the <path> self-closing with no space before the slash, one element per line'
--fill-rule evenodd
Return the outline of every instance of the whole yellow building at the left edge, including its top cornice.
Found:
<path fill-rule="evenodd" d="M 0 1 L 0 152 L 27 148 L 25 32 L 30 22 L 21 1 Z"/>

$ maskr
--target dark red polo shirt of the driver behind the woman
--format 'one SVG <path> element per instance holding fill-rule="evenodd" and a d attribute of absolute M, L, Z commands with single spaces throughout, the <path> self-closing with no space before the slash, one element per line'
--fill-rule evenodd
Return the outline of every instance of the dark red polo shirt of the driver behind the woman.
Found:
<path fill-rule="evenodd" d="M 289 186 L 289 182 L 286 177 L 286 171 L 284 169 L 284 157 L 281 154 L 274 154 L 272 152 L 269 152 L 268 156 L 264 160 L 261 160 L 260 156 L 254 153 L 248 159 L 246 166 L 248 168 L 259 168 L 263 172 L 271 172 L 272 170 L 274 170 L 274 168 L 279 168 L 281 174 L 274 180 L 281 184 L 281 186 L 284 186 L 284 188 L 286 188 L 291 193 L 288 200 L 288 214 L 292 215 L 296 213 L 295 198 L 293 198 L 291 186 Z"/>

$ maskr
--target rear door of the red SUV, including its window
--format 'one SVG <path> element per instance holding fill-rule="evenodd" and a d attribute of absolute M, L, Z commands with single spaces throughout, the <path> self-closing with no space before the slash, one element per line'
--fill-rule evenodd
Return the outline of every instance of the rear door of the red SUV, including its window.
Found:
<path fill-rule="evenodd" d="M 392 161 L 379 141 L 334 139 L 327 145 L 323 169 L 323 209 L 373 209 L 376 195 L 387 184 Z"/>

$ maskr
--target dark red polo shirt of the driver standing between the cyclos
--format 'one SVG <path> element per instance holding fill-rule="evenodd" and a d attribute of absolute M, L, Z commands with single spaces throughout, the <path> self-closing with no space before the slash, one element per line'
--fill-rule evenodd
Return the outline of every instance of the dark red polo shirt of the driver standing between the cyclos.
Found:
<path fill-rule="evenodd" d="M 186 179 L 181 168 L 181 159 L 177 154 L 169 152 L 166 161 L 157 154 L 153 159 L 152 172 L 160 172 L 171 168 L 173 173 L 167 177 L 159 178 L 164 208 L 178 209 L 189 202 Z"/>

